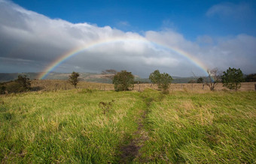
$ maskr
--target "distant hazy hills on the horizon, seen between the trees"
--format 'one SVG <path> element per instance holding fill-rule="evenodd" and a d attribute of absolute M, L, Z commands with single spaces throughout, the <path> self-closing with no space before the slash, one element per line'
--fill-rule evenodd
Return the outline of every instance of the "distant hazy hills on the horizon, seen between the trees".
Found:
<path fill-rule="evenodd" d="M 29 79 L 37 79 L 39 74 L 41 73 L 0 73 L 0 82 L 8 82 L 14 79 L 17 79 L 19 75 L 21 76 L 28 76 Z M 56 73 L 52 72 L 47 76 L 47 79 L 62 79 L 66 80 L 69 79 L 69 75 L 71 73 Z M 102 83 L 111 83 L 111 79 L 108 79 L 105 77 L 105 75 L 100 73 L 80 73 L 81 80 L 87 81 L 87 82 L 102 82 Z M 191 79 L 197 79 L 196 77 L 178 77 L 178 76 L 172 76 L 173 83 L 187 83 Z M 150 83 L 151 81 L 147 78 L 141 78 L 139 76 L 135 76 L 135 80 L 142 83 Z"/>

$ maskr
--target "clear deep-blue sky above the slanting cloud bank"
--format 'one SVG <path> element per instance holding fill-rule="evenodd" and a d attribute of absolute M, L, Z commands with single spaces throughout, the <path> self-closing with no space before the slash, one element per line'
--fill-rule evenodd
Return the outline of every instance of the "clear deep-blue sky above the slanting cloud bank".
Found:
<path fill-rule="evenodd" d="M 123 31 L 159 31 L 174 28 L 189 40 L 198 35 L 208 34 L 215 37 L 223 35 L 256 35 L 256 1 L 41 1 L 15 0 L 29 10 L 65 19 L 69 22 L 90 22 L 99 26 L 110 25 Z M 216 4 L 230 4 L 224 15 L 208 10 Z M 244 7 L 240 12 L 239 6 Z M 233 7 L 233 9 L 231 8 Z M 226 9 L 227 10 L 227 9 Z M 221 11 L 220 11 L 221 12 Z M 230 13 L 228 13 L 230 12 Z"/>

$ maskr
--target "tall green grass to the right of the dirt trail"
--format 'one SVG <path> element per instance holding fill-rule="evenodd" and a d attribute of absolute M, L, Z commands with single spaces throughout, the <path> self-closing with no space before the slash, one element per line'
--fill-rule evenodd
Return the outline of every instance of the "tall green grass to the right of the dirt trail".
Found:
<path fill-rule="evenodd" d="M 256 162 L 255 92 L 173 92 L 152 103 L 147 121 L 147 161 Z"/>

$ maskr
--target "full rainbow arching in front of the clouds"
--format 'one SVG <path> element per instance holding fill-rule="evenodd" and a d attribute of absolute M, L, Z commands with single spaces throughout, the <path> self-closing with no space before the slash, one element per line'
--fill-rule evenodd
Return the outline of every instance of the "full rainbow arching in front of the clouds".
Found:
<path fill-rule="evenodd" d="M 181 49 L 175 48 L 175 47 L 171 47 L 171 46 L 166 46 L 163 45 L 162 43 L 156 43 L 154 41 L 151 40 L 146 40 L 142 37 L 138 37 L 138 38 L 120 38 L 120 37 L 114 37 L 111 39 L 105 39 L 105 40 L 97 40 L 95 42 L 89 43 L 85 46 L 80 46 L 76 49 L 72 49 L 69 52 L 66 52 L 64 55 L 60 56 L 59 58 L 57 58 L 55 61 L 53 61 L 52 63 L 50 63 L 38 76 L 38 79 L 44 79 L 46 78 L 50 72 L 52 72 L 56 67 L 58 67 L 60 64 L 62 64 L 64 61 L 67 61 L 69 58 L 72 58 L 75 55 L 78 55 L 79 53 L 87 50 L 87 49 L 93 49 L 96 46 L 101 46 L 104 44 L 108 44 L 108 43 L 118 43 L 118 42 L 138 42 L 138 43 L 148 43 L 154 46 L 160 46 L 163 47 L 165 49 L 170 49 L 172 52 L 178 53 L 179 55 L 184 56 L 185 58 L 187 58 L 188 60 L 192 61 L 194 64 L 197 65 L 197 67 L 200 67 L 201 70 L 203 70 L 206 74 L 207 74 L 207 67 L 205 64 L 203 64 L 203 62 L 201 62 L 200 60 L 198 60 L 197 58 L 195 58 L 193 55 L 190 55 L 187 52 L 184 52 Z"/>

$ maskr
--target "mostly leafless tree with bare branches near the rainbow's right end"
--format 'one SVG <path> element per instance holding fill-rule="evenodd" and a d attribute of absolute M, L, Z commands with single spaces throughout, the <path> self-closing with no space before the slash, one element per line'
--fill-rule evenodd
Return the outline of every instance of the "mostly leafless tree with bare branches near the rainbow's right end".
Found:
<path fill-rule="evenodd" d="M 215 90 L 218 82 L 221 82 L 221 73 L 219 73 L 218 68 L 207 70 L 208 77 L 204 80 L 206 85 L 209 86 L 211 91 Z"/>

